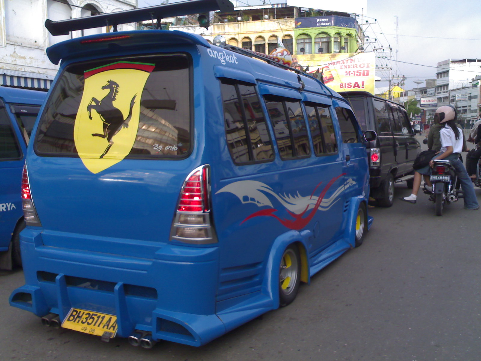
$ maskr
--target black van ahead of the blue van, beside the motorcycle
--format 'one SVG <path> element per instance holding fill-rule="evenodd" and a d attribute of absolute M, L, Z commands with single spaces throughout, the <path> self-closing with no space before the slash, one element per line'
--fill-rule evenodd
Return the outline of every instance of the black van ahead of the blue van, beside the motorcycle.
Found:
<path fill-rule="evenodd" d="M 403 105 L 377 97 L 367 91 L 340 93 L 351 105 L 363 130 L 375 130 L 378 137 L 369 142 L 371 197 L 376 205 L 392 206 L 394 182 L 406 181 L 412 188 L 413 162 L 420 144 Z"/>

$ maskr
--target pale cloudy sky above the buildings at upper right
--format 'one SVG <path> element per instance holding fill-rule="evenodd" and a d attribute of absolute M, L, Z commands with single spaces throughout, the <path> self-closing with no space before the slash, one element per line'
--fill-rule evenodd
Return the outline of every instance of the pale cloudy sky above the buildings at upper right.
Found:
<path fill-rule="evenodd" d="M 157 5 L 161 1 L 139 0 L 139 7 Z M 250 5 L 262 3 L 260 0 L 242 1 Z M 172 2 L 175 0 L 170 0 Z M 269 2 L 284 1 L 266 0 Z M 425 79 L 436 78 L 438 62 L 481 58 L 481 20 L 476 3 L 475 0 L 367 0 L 363 28 L 369 39 L 377 40 L 365 46 L 365 51 L 391 46 L 392 52 L 376 51 L 378 67 L 391 66 L 394 83 L 405 77 L 405 90 L 423 87 Z M 377 87 L 389 85 L 389 70 L 377 70 L 376 75 L 382 79 Z M 467 73 L 467 78 L 474 76 L 474 73 Z M 422 83 L 418 85 L 415 81 Z"/>

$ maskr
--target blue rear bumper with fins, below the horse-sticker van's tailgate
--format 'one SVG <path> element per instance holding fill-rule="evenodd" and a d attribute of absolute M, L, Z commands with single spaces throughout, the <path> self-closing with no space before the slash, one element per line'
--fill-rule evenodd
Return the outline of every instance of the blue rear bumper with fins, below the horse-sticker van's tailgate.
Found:
<path fill-rule="evenodd" d="M 161 244 L 145 259 L 45 246 L 32 229 L 21 238 L 26 284 L 11 306 L 61 321 L 72 307 L 115 314 L 118 336 L 143 330 L 191 346 L 227 331 L 215 314 L 217 247 Z"/>

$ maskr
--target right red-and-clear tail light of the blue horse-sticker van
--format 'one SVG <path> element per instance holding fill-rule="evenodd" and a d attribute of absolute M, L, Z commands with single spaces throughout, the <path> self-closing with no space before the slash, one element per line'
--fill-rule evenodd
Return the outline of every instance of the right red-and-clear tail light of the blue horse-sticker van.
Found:
<path fill-rule="evenodd" d="M 210 167 L 203 165 L 190 172 L 184 181 L 170 239 L 193 245 L 217 243 L 211 217 Z"/>

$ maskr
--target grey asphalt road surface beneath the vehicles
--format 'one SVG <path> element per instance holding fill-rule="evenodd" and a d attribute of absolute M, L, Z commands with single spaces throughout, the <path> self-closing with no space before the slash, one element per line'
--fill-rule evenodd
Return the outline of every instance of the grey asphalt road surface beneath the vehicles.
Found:
<path fill-rule="evenodd" d="M 396 197 L 408 194 L 396 184 Z M 290 306 L 201 348 L 161 342 L 147 350 L 47 328 L 8 305 L 22 271 L 1 272 L 0 360 L 479 361 L 481 211 L 460 200 L 436 217 L 427 198 L 369 208 L 374 223 L 361 247 L 302 285 Z"/>

